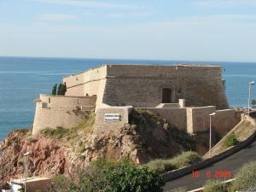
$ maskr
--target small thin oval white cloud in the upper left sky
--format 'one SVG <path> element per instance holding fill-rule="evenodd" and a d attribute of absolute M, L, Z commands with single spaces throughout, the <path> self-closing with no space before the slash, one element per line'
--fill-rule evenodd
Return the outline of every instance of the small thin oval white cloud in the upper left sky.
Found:
<path fill-rule="evenodd" d="M 38 20 L 41 21 L 61 21 L 61 20 L 75 20 L 78 17 L 76 15 L 65 14 L 43 14 L 38 16 Z"/>

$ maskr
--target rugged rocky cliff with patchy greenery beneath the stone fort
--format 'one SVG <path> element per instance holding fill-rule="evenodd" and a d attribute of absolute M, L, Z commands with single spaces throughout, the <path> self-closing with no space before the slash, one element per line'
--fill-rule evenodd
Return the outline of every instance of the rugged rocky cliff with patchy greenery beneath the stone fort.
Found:
<path fill-rule="evenodd" d="M 204 152 L 207 143 L 195 142 L 183 131 L 169 125 L 156 113 L 139 110 L 130 116 L 131 124 L 108 135 L 93 132 L 94 114 L 73 129 L 57 127 L 45 129 L 38 137 L 31 130 L 13 131 L 0 143 L 3 155 L 0 158 L 0 180 L 21 177 L 24 156 L 29 157 L 29 174 L 52 177 L 55 174 L 70 175 L 92 160 L 106 158 L 119 160 L 127 157 L 141 165 L 156 158 L 168 158 L 184 150 L 200 148 Z"/>

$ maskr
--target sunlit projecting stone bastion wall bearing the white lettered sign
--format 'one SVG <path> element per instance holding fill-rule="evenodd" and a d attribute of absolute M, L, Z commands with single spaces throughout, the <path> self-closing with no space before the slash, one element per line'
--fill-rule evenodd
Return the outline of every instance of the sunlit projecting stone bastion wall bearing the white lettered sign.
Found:
<path fill-rule="evenodd" d="M 119 128 L 123 127 L 125 124 L 129 123 L 129 113 L 131 112 L 131 107 L 107 107 L 98 108 L 96 111 L 96 127 L 94 133 L 96 134 L 107 134 L 110 131 L 117 131 Z M 106 120 L 106 113 L 119 113 L 119 120 Z"/>

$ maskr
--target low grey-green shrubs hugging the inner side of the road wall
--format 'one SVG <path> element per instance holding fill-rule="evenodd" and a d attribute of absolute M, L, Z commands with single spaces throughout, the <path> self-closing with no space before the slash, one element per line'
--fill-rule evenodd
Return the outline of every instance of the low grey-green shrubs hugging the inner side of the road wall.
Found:
<path fill-rule="evenodd" d="M 167 172 L 172 171 L 174 169 L 182 168 L 184 166 L 190 166 L 196 162 L 201 161 L 202 158 L 199 154 L 193 151 L 183 152 L 171 159 L 158 159 L 158 160 L 151 160 L 145 166 L 148 166 L 148 169 L 151 172 Z"/>

